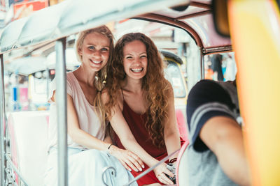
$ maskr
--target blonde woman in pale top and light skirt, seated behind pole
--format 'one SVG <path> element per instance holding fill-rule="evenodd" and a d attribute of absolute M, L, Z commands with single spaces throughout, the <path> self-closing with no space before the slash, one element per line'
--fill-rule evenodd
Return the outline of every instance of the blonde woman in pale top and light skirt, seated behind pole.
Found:
<path fill-rule="evenodd" d="M 69 185 L 104 185 L 101 170 L 106 166 L 117 171 L 116 178 L 109 171 L 106 173 L 106 184 L 124 185 L 133 176 L 122 163 L 141 166 L 143 162 L 129 150 L 112 147 L 112 141 L 106 135 L 101 91 L 112 60 L 113 34 L 106 26 L 80 32 L 76 54 L 82 63 L 78 69 L 66 74 Z M 50 186 L 57 185 L 55 90 L 54 79 L 50 93 L 48 168 L 45 172 L 45 185 Z"/>

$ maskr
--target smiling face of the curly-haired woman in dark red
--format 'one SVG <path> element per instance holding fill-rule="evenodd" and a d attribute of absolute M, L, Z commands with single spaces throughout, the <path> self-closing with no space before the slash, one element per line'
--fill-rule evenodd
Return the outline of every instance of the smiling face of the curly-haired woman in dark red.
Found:
<path fill-rule="evenodd" d="M 146 46 L 140 40 L 127 42 L 123 47 L 123 66 L 127 77 L 141 79 L 146 75 L 148 57 Z"/>

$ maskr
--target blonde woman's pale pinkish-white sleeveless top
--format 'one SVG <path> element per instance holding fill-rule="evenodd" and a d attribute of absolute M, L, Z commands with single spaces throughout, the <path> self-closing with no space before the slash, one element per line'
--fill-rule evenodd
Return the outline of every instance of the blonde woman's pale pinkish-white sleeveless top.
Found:
<path fill-rule="evenodd" d="M 73 72 L 67 72 L 66 77 L 66 91 L 73 98 L 73 104 L 78 115 L 80 129 L 103 141 L 105 130 L 104 127 L 102 127 L 102 122 L 99 121 L 97 113 L 94 111 L 94 106 L 92 106 L 85 98 L 82 88 L 78 83 L 78 79 L 73 75 Z M 50 98 L 55 89 L 55 79 L 53 79 L 50 84 Z M 50 148 L 52 146 L 57 147 L 57 111 L 56 103 L 52 102 L 51 99 L 49 99 L 49 102 L 50 123 L 48 128 L 48 147 Z M 87 149 L 85 146 L 73 142 L 69 135 L 67 135 L 67 144 L 68 147 L 71 148 Z"/>

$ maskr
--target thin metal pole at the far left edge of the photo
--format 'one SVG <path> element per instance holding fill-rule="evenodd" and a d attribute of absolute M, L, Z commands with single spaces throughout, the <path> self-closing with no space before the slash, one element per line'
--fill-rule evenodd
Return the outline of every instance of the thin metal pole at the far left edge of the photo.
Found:
<path fill-rule="evenodd" d="M 4 89 L 4 61 L 3 61 L 3 54 L 0 55 L 1 59 L 1 70 L 0 70 L 0 139 L 1 139 L 1 186 L 4 186 L 5 180 L 6 180 L 6 159 L 5 159 L 5 153 L 6 153 L 6 146 L 5 146 L 5 138 L 4 138 L 4 127 L 6 127 L 6 120 L 5 120 L 5 89 Z"/>

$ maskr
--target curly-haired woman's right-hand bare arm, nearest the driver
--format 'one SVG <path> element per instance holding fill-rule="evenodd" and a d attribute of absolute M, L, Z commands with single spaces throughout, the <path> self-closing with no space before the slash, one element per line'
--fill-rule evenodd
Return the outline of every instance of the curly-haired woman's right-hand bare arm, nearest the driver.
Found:
<path fill-rule="evenodd" d="M 165 137 L 165 146 L 167 148 L 167 153 L 171 154 L 175 150 L 181 148 L 181 141 L 179 130 L 176 123 L 176 114 L 174 107 L 174 93 L 171 84 L 169 84 L 169 95 L 168 95 L 168 107 L 167 107 L 167 119 L 164 123 L 164 137 Z M 169 157 L 169 160 L 176 158 L 178 154 Z"/>

